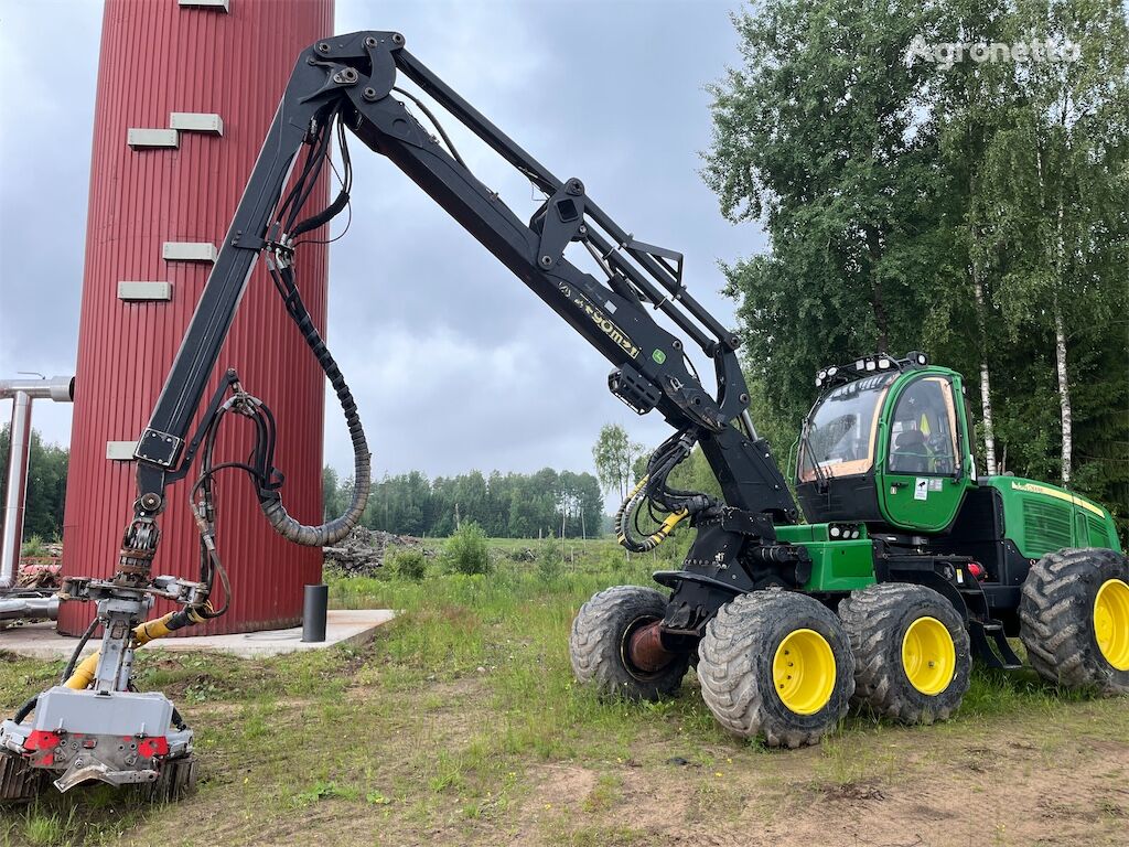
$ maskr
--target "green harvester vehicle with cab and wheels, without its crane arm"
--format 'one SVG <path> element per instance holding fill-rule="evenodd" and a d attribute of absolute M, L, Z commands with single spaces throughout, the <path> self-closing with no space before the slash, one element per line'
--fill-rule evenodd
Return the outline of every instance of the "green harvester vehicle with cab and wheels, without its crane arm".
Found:
<path fill-rule="evenodd" d="M 948 717 L 974 656 L 1022 665 L 1009 637 L 1047 680 L 1129 693 L 1129 568 L 1105 508 L 1045 482 L 978 478 L 963 377 L 924 353 L 828 367 L 815 384 L 795 479 L 806 523 L 787 503 L 752 517 L 690 503 L 666 488 L 660 451 L 619 515 L 621 541 L 650 549 L 695 506 L 698 536 L 681 570 L 655 574 L 672 593 L 619 586 L 584 605 L 577 679 L 654 699 L 697 662 L 723 725 L 788 746 L 816 742 L 851 706 Z M 732 455 L 701 444 L 725 489 Z M 669 516 L 637 538 L 648 498 Z"/>

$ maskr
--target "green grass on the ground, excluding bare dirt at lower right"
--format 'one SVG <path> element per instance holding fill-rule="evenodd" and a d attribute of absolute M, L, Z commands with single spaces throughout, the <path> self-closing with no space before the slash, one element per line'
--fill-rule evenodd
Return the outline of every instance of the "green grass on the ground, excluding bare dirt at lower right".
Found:
<path fill-rule="evenodd" d="M 0 817 L 0 845 L 195 842 L 212 819 L 230 828 L 213 842 L 254 842 L 295 820 L 336 821 L 323 836 L 340 842 L 497 842 L 523 820 L 543 841 L 646 844 L 646 831 L 616 817 L 630 806 L 624 780 L 639 774 L 684 785 L 689 823 L 721 826 L 750 792 L 781 793 L 785 778 L 814 792 L 895 783 L 945 762 L 946 744 L 990 739 L 1006 722 L 1041 727 L 1038 752 L 1048 759 L 1071 733 L 1110 742 L 1129 733 L 1123 702 L 1079 702 L 1085 693 L 1029 672 L 978 670 L 947 724 L 895 727 L 852 714 L 822 748 L 799 753 L 724 733 L 692 678 L 660 704 L 601 702 L 574 683 L 571 619 L 596 591 L 648 584 L 668 565 L 628 561 L 607 541 L 575 543 L 580 553 L 548 574 L 507 556 L 528 542 L 492 540 L 489 576 L 440 573 L 431 558 L 422 580 L 335 579 L 334 606 L 401 612 L 364 647 L 254 661 L 147 647 L 138 686 L 165 691 L 195 727 L 199 793 L 155 809 L 105 786 L 51 792 Z M 0 704 L 23 702 L 61 669 L 0 653 Z M 672 757 L 690 763 L 675 768 Z M 594 774 L 576 814 L 537 800 L 545 768 Z M 1105 818 L 1115 823 L 1115 812 Z M 361 820 L 371 828 L 338 829 Z M 441 838 L 425 837 L 436 830 Z"/>

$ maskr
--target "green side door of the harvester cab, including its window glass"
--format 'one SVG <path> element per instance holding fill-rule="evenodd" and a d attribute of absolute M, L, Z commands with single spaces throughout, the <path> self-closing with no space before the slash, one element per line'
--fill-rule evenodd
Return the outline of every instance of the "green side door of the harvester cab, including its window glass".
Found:
<path fill-rule="evenodd" d="M 953 376 L 926 373 L 886 399 L 875 478 L 891 525 L 939 532 L 956 517 L 971 473 L 963 459 L 968 422 L 959 393 Z"/>

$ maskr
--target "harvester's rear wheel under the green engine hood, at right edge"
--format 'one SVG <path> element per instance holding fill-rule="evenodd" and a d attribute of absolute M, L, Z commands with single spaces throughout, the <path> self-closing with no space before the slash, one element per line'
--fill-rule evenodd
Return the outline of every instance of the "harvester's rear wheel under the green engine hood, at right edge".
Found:
<path fill-rule="evenodd" d="M 1095 615 L 1103 587 L 1104 613 Z M 1031 566 L 1019 601 L 1019 639 L 1031 666 L 1068 688 L 1129 695 L 1127 601 L 1129 562 L 1121 553 L 1097 548 L 1047 553 Z M 1100 627 L 1110 656 L 1099 644 Z"/>

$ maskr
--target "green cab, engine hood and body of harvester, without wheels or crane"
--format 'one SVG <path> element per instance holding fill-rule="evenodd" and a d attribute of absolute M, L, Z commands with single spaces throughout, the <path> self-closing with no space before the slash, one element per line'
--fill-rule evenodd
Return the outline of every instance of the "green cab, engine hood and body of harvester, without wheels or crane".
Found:
<path fill-rule="evenodd" d="M 964 378 L 925 355 L 872 356 L 821 370 L 804 421 L 796 492 L 809 523 L 777 527 L 812 559 L 805 591 L 927 585 L 972 612 L 979 653 L 1018 664 L 1024 580 L 1064 549 L 1121 552 L 1101 505 L 1058 486 L 977 477 Z M 999 655 L 989 649 L 994 641 Z"/>

